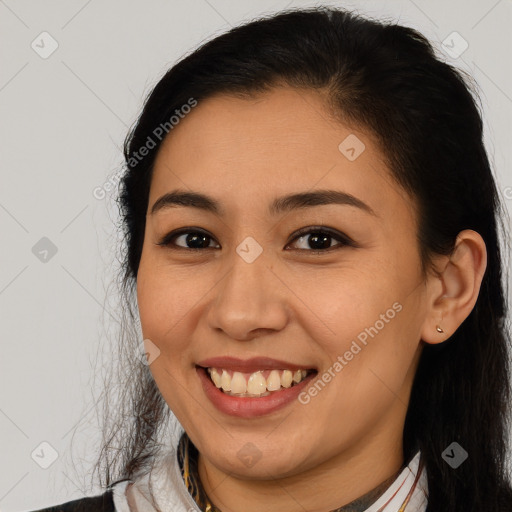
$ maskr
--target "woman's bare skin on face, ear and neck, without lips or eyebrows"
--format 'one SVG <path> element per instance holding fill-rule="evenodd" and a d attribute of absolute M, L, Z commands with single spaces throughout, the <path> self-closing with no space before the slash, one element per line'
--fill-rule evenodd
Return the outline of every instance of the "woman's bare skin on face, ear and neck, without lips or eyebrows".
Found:
<path fill-rule="evenodd" d="M 354 161 L 338 149 L 350 134 L 365 144 Z M 224 215 L 183 206 L 150 213 L 177 188 L 211 196 Z M 267 211 L 276 197 L 318 189 L 348 192 L 376 215 L 350 205 Z M 318 225 L 356 245 L 328 238 L 330 250 L 312 253 L 308 234 L 294 233 Z M 207 231 L 210 248 L 188 252 L 185 236 L 175 249 L 157 245 L 188 226 Z M 160 350 L 152 375 L 198 448 L 201 481 L 223 512 L 326 512 L 400 469 L 422 346 L 445 341 L 467 317 L 486 266 L 482 238 L 465 230 L 451 258 L 435 258 L 439 275 L 423 279 L 416 232 L 415 202 L 392 180 L 374 139 L 332 119 L 317 92 L 217 95 L 166 138 L 149 194 L 138 305 L 144 338 Z M 236 252 L 248 236 L 263 249 L 252 263 Z M 214 356 L 267 356 L 322 375 L 396 302 L 401 311 L 307 405 L 241 419 L 203 392 L 195 364 Z M 252 467 L 237 456 L 247 443 L 261 455 Z"/>

